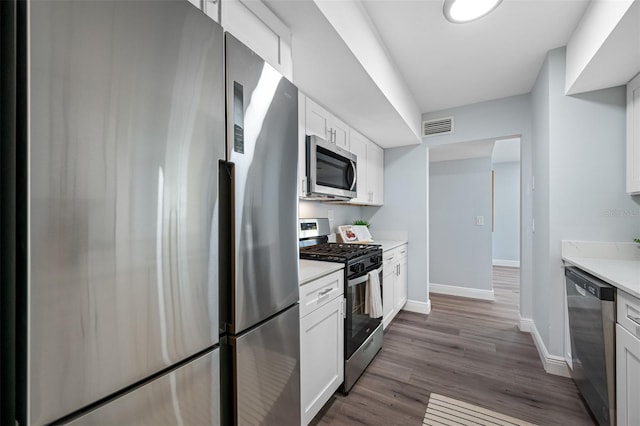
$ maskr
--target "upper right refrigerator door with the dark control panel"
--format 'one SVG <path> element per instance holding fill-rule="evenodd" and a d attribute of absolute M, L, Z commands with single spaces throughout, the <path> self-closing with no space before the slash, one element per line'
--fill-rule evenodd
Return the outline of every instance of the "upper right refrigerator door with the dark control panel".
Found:
<path fill-rule="evenodd" d="M 299 298 L 298 90 L 229 33 L 225 40 L 235 272 L 221 314 L 239 334 Z"/>

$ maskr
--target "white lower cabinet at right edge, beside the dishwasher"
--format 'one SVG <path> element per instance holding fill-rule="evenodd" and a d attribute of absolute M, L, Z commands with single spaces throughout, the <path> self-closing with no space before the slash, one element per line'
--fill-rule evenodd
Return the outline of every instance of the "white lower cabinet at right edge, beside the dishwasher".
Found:
<path fill-rule="evenodd" d="M 618 291 L 617 311 L 617 424 L 640 425 L 640 300 Z"/>

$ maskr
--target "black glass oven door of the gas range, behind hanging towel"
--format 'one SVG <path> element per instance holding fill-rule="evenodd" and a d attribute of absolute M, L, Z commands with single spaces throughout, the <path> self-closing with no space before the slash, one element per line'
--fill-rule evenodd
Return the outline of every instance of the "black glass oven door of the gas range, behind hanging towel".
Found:
<path fill-rule="evenodd" d="M 382 267 L 377 271 L 380 277 L 380 297 L 382 297 Z M 364 313 L 368 280 L 369 273 L 367 272 L 362 276 L 347 281 L 347 306 L 344 328 L 345 359 L 349 359 L 353 355 L 382 321 L 382 317 L 371 318 L 369 314 Z"/>

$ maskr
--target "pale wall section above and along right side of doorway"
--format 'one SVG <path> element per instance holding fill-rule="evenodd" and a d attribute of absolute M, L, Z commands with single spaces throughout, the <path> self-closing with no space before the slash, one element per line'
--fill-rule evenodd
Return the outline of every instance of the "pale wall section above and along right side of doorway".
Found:
<path fill-rule="evenodd" d="M 520 313 L 531 318 L 532 310 L 532 240 L 531 240 L 531 105 L 529 95 L 512 96 L 459 108 L 423 114 L 423 120 L 453 116 L 455 133 L 424 138 L 424 143 L 438 145 L 520 136 L 521 204 L 520 234 Z M 430 247 L 429 250 L 436 250 Z"/>

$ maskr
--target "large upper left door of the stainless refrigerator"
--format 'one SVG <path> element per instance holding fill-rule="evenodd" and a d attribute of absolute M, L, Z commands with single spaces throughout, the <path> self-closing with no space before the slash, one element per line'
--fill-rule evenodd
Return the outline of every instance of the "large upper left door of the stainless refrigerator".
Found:
<path fill-rule="evenodd" d="M 31 1 L 29 424 L 218 341 L 223 32 L 186 1 Z"/>

